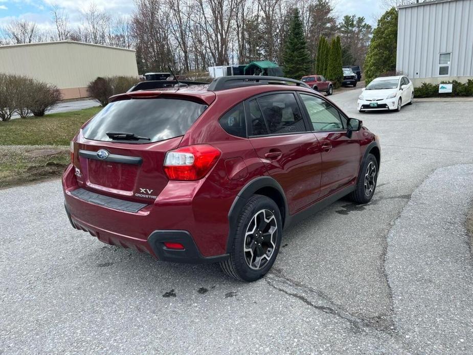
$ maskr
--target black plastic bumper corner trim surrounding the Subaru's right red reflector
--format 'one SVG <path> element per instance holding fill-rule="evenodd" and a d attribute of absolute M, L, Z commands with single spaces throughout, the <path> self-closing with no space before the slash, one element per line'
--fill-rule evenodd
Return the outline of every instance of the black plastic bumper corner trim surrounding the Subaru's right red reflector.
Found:
<path fill-rule="evenodd" d="M 185 249 L 168 249 L 165 241 L 181 243 Z M 194 239 L 188 231 L 182 230 L 157 230 L 148 237 L 148 243 L 158 260 L 181 263 L 211 263 L 226 260 L 229 254 L 205 257 L 200 254 Z"/>

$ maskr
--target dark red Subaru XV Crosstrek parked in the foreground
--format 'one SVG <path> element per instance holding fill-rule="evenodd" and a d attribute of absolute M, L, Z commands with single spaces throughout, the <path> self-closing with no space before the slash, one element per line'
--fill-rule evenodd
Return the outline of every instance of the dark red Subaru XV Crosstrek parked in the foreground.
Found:
<path fill-rule="evenodd" d="M 81 127 L 62 178 L 72 226 L 105 243 L 254 281 L 290 224 L 373 196 L 379 141 L 303 82 L 141 84 Z"/>

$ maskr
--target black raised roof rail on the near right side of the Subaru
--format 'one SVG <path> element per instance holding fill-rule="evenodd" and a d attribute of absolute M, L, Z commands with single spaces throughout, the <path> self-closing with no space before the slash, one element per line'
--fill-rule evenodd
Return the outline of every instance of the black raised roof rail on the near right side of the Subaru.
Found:
<path fill-rule="evenodd" d="M 219 91 L 228 88 L 234 87 L 243 87 L 243 86 L 254 86 L 254 85 L 287 85 L 287 83 L 295 83 L 297 86 L 310 88 L 305 82 L 280 78 L 277 76 L 255 76 L 255 75 L 235 75 L 235 76 L 222 76 L 214 79 L 207 90 L 210 91 Z"/>

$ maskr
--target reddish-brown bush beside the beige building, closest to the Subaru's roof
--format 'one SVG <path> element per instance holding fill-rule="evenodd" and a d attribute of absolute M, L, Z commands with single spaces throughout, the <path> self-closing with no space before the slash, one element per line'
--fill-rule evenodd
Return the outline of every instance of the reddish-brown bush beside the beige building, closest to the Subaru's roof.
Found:
<path fill-rule="evenodd" d="M 98 77 L 87 85 L 87 93 L 98 100 L 102 106 L 108 103 L 108 98 L 117 94 L 126 93 L 128 89 L 139 82 L 132 76 Z"/>

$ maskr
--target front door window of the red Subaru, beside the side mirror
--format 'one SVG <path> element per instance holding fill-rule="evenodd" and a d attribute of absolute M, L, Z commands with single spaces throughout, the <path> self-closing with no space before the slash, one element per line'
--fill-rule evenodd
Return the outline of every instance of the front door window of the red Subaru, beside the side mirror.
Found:
<path fill-rule="evenodd" d="M 327 101 L 304 94 L 301 94 L 301 98 L 309 113 L 313 130 L 331 131 L 346 129 L 345 120 L 340 116 L 338 110 Z"/>

